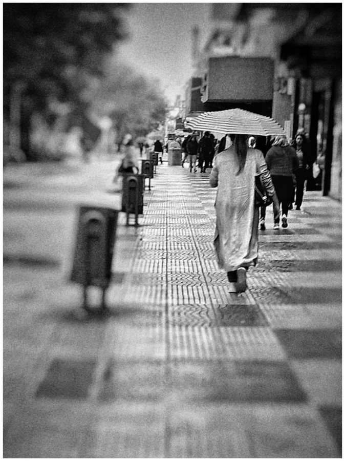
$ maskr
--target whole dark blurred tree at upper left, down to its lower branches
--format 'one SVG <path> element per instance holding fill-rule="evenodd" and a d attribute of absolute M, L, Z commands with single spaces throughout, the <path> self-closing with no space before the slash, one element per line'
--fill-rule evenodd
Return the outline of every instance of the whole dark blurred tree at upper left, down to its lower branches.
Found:
<path fill-rule="evenodd" d="M 126 36 L 122 12 L 130 4 L 5 3 L 4 114 L 9 141 L 30 158 L 30 118 L 53 122 L 52 105 L 70 103 L 77 117 L 85 90 L 102 75 L 103 59 Z"/>

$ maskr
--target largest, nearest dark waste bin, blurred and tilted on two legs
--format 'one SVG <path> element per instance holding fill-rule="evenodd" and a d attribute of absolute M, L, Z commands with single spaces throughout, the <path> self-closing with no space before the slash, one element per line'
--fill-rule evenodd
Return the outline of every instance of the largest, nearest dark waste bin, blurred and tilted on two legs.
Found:
<path fill-rule="evenodd" d="M 83 286 L 83 307 L 86 310 L 88 286 L 102 288 L 102 308 L 105 307 L 105 290 L 111 279 L 117 218 L 118 211 L 115 209 L 95 206 L 79 208 L 70 280 Z"/>

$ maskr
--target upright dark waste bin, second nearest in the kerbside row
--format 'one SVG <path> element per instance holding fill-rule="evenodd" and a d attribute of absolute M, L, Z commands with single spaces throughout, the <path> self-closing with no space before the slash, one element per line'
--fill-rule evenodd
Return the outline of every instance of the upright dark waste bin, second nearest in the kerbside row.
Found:
<path fill-rule="evenodd" d="M 144 180 L 146 175 L 122 173 L 122 205 L 121 211 L 126 213 L 126 225 L 129 225 L 129 215 L 135 215 L 135 224 L 138 225 L 138 215 L 143 214 Z"/>

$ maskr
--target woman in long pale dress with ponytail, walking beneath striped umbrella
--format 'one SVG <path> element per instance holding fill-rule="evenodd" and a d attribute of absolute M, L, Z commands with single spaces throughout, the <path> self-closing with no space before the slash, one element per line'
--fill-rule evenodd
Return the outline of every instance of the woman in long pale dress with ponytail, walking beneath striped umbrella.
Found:
<path fill-rule="evenodd" d="M 255 174 L 261 173 L 267 193 L 277 202 L 264 156 L 248 148 L 248 136 L 235 135 L 233 144 L 214 157 L 210 186 L 217 187 L 214 246 L 219 267 L 226 270 L 230 292 L 247 288 L 246 271 L 256 265 L 258 207 L 254 206 Z"/>

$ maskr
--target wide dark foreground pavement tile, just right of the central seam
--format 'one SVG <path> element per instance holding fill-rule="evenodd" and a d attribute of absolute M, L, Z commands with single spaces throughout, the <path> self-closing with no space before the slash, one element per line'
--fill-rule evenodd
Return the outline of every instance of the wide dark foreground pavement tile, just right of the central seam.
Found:
<path fill-rule="evenodd" d="M 172 362 L 174 392 L 197 402 L 303 402 L 306 394 L 285 362 Z"/>

